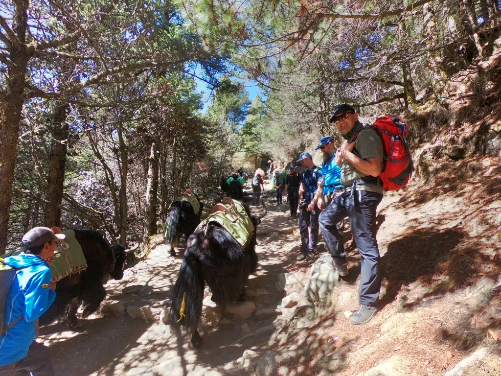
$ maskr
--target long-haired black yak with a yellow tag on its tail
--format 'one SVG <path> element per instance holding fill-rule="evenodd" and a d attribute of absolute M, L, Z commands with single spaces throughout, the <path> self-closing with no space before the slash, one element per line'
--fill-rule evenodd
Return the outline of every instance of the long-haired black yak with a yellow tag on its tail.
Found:
<path fill-rule="evenodd" d="M 228 200 L 224 199 L 223 204 Z M 226 304 L 245 297 L 244 286 L 258 265 L 256 232 L 261 218 L 266 215 L 266 206 L 263 203 L 264 212 L 260 216 L 251 216 L 248 206 L 242 206 L 254 227 L 245 247 L 217 222 L 209 221 L 188 238 L 172 292 L 169 324 L 176 332 L 182 326 L 187 328 L 191 332 L 191 344 L 195 348 L 203 343 L 197 326 L 205 283 L 210 287 L 212 300 L 224 310 Z M 217 211 L 220 207 L 221 204 L 217 204 L 214 209 Z"/>

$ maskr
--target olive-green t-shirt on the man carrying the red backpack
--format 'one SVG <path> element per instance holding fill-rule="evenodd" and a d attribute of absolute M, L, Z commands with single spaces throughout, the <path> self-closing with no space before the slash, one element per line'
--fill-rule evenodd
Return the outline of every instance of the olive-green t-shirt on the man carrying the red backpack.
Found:
<path fill-rule="evenodd" d="M 377 134 L 377 132 L 370 128 L 364 128 L 362 123 L 355 125 L 356 133 L 358 133 L 355 138 L 355 148 L 354 151 L 362 159 L 368 159 L 373 157 L 379 157 L 381 159 L 381 168 L 384 166 L 384 151 L 383 142 Z M 352 142 L 350 139 L 349 142 Z M 369 176 L 366 173 L 362 173 L 357 170 L 350 162 L 348 162 L 344 157 L 342 158 L 341 167 L 341 184 L 349 187 L 353 184 L 353 181 L 359 177 Z M 357 190 L 361 191 L 371 191 L 376 193 L 383 193 L 382 186 L 375 185 L 357 185 Z"/>

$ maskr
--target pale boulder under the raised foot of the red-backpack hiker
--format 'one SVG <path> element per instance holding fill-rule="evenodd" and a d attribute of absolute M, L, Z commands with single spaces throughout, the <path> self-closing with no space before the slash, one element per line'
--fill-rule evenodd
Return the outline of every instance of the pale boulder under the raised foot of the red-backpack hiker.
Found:
<path fill-rule="evenodd" d="M 312 265 L 311 277 L 305 289 L 306 298 L 311 303 L 327 301 L 339 279 L 338 271 L 332 266 L 331 255 L 321 256 Z"/>

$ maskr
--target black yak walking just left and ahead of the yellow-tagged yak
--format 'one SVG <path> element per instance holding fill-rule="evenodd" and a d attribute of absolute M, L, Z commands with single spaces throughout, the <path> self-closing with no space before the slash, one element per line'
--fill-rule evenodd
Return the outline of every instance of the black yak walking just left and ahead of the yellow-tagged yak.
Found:
<path fill-rule="evenodd" d="M 198 201 L 200 209 L 196 214 L 191 204 L 182 200 L 185 196 L 190 199 L 194 198 Z M 163 234 L 165 237 L 165 244 L 170 246 L 169 252 L 171 256 L 176 255 L 175 247 L 177 247 L 181 234 L 184 235 L 184 239 L 188 240 L 189 236 L 195 231 L 200 223 L 202 209 L 203 204 L 200 203 L 198 196 L 195 193 L 191 193 L 189 190 L 186 190 L 186 193 L 181 194 L 179 198 L 170 204 L 169 215 L 163 226 Z"/>

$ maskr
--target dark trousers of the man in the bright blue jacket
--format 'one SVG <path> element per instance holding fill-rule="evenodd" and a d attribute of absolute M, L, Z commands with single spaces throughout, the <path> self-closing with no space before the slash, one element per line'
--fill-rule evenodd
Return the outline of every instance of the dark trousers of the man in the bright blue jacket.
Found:
<path fill-rule="evenodd" d="M 0 366 L 0 376 L 17 376 L 32 373 L 33 376 L 55 376 L 47 346 L 33 341 L 25 358 Z"/>

